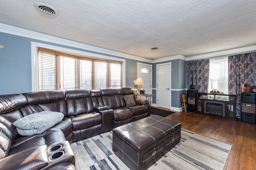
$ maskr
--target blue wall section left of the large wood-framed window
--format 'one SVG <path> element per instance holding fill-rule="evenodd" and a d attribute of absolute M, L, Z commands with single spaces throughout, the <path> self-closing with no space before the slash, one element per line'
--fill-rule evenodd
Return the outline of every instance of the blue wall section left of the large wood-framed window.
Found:
<path fill-rule="evenodd" d="M 0 94 L 31 91 L 31 39 L 0 33 Z"/>

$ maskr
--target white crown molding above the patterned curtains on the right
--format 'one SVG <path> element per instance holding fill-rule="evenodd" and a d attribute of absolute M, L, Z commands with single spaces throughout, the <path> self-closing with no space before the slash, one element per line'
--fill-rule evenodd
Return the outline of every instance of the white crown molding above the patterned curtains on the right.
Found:
<path fill-rule="evenodd" d="M 193 55 L 193 56 L 187 57 L 186 61 L 207 59 L 211 57 L 220 57 L 225 55 L 235 55 L 239 53 L 249 53 L 250 51 L 256 51 L 256 45 L 248 45 L 248 46 L 238 47 L 234 49 L 226 49 L 226 50 L 216 51 L 212 53 Z"/>

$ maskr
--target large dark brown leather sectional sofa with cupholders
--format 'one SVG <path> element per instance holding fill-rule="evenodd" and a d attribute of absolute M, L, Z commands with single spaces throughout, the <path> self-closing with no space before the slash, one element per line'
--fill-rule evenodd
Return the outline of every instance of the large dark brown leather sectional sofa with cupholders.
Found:
<path fill-rule="evenodd" d="M 132 95 L 134 106 L 126 106 Z M 12 124 L 41 111 L 57 111 L 63 120 L 40 134 L 19 135 Z M 70 143 L 148 117 L 147 100 L 130 88 L 43 91 L 0 95 L 0 169 L 75 169 Z"/>

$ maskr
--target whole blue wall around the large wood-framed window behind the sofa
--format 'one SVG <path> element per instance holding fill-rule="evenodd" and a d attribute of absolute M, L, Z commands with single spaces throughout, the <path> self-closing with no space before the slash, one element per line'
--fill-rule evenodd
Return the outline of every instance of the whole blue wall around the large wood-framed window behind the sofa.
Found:
<path fill-rule="evenodd" d="M 121 56 L 113 56 L 77 49 L 65 45 L 30 39 L 7 33 L 0 33 L 0 44 L 4 48 L 0 49 L 0 94 L 15 94 L 32 91 L 32 70 L 31 70 L 31 41 L 75 49 L 79 51 L 101 54 L 107 57 L 116 57 L 126 60 L 126 84 L 129 88 L 137 88 L 133 80 L 137 77 L 137 62 L 136 60 L 126 59 Z M 147 63 L 151 64 L 151 63 Z"/>

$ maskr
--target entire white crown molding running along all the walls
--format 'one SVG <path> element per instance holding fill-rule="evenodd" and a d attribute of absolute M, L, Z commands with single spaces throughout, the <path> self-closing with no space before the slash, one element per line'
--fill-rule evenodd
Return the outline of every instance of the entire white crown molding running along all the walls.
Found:
<path fill-rule="evenodd" d="M 143 62 L 147 62 L 147 63 L 160 63 L 160 62 L 165 62 L 165 61 L 170 61 L 170 60 L 175 60 L 175 59 L 192 61 L 192 60 L 206 59 L 206 58 L 211 58 L 211 57 L 220 57 L 220 56 L 225 56 L 225 55 L 234 55 L 234 54 L 238 54 L 238 53 L 248 53 L 250 51 L 256 51 L 256 45 L 248 45 L 248 46 L 244 46 L 244 47 L 238 47 L 238 48 L 234 48 L 234 49 L 226 49 L 226 50 L 222 50 L 222 51 L 216 51 L 216 52 L 205 53 L 205 54 L 200 54 L 200 55 L 193 55 L 193 56 L 188 56 L 188 57 L 177 54 L 177 55 L 172 55 L 172 56 L 168 56 L 168 57 L 162 57 L 160 59 L 146 59 L 144 57 L 130 55 L 127 53 L 122 53 L 122 52 L 118 52 L 118 51 L 114 51 L 114 50 L 110 50 L 110 49 L 104 49 L 101 47 L 87 45 L 84 43 L 78 43 L 76 41 L 71 41 L 68 39 L 55 37 L 52 35 L 47 35 L 47 34 L 39 33 L 36 31 L 31 31 L 28 29 L 14 27 L 11 25 L 6 25 L 4 23 L 0 23 L 0 32 L 12 34 L 12 35 L 18 35 L 21 37 L 26 37 L 26 38 L 31 38 L 31 39 L 37 39 L 40 41 L 46 41 L 46 42 L 50 42 L 50 43 L 56 43 L 56 44 L 60 44 L 60 45 L 66 45 L 68 47 L 84 49 L 87 51 L 93 51 L 95 53 L 102 53 L 109 57 L 116 56 L 116 57 L 122 57 L 122 58 L 126 58 L 126 59 L 143 61 Z"/>

